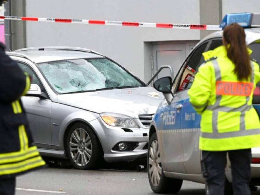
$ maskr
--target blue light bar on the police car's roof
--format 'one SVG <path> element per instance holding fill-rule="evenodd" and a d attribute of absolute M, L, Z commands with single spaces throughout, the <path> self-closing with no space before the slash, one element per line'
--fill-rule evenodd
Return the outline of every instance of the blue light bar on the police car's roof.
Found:
<path fill-rule="evenodd" d="M 224 16 L 222 22 L 220 23 L 220 28 L 225 28 L 227 25 L 232 23 L 238 23 L 244 28 L 248 28 L 252 23 L 252 13 L 235 13 L 227 14 Z"/>

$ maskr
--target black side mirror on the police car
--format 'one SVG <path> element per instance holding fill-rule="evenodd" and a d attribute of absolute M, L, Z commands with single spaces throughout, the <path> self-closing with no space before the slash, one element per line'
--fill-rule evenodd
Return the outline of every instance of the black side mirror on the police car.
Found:
<path fill-rule="evenodd" d="M 154 88 L 163 93 L 168 104 L 172 102 L 172 77 L 163 77 L 158 79 L 153 84 Z"/>

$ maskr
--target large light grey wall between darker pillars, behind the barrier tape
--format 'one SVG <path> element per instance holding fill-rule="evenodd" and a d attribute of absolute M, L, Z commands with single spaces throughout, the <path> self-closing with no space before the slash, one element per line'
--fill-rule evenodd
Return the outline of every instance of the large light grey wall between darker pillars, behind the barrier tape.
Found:
<path fill-rule="evenodd" d="M 200 23 L 198 0 L 26 0 L 26 16 L 157 23 Z M 199 40 L 199 30 L 26 22 L 27 47 L 76 46 L 112 58 L 148 81 L 150 43 Z"/>

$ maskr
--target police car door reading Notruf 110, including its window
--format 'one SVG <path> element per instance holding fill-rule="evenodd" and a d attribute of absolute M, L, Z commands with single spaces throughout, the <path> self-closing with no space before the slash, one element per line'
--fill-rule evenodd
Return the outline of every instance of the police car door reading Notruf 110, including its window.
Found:
<path fill-rule="evenodd" d="M 200 150 L 198 149 L 201 116 L 195 112 L 189 103 L 187 92 L 199 66 L 204 62 L 202 53 L 215 49 L 215 47 L 221 44 L 221 40 L 210 40 L 209 42 L 204 42 L 196 47 L 185 63 L 186 68 L 182 73 L 179 86 L 176 88 L 176 93 L 182 94 L 182 97 L 184 98 L 182 102 L 181 133 L 184 152 L 183 163 L 189 174 L 201 173 Z"/>

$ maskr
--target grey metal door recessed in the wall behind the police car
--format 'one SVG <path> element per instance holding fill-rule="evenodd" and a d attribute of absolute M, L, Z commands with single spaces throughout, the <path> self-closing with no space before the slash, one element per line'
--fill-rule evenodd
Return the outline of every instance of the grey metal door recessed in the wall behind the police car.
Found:
<path fill-rule="evenodd" d="M 189 52 L 189 51 L 188 51 Z M 156 44 L 152 47 L 153 74 L 163 65 L 169 65 L 176 74 L 186 57 L 185 43 L 181 44 Z M 169 76 L 168 70 L 162 70 L 157 78 Z"/>

